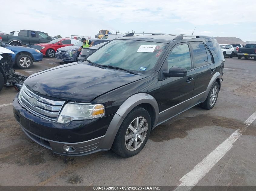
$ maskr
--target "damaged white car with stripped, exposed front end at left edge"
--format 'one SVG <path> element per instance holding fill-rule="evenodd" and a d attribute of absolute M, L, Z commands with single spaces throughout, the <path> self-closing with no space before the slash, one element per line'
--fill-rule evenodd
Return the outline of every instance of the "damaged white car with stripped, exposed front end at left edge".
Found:
<path fill-rule="evenodd" d="M 19 91 L 23 82 L 27 79 L 26 76 L 15 74 L 11 54 L 14 54 L 14 52 L 0 47 L 0 91 L 4 84 L 6 86 L 14 86 L 15 90 Z"/>

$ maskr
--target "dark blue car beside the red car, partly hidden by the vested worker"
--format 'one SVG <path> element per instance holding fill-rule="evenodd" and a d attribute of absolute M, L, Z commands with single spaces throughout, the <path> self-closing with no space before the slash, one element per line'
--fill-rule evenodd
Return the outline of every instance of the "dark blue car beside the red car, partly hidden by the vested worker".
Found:
<path fill-rule="evenodd" d="M 95 39 L 95 38 L 91 38 L 89 40 L 93 41 L 93 46 L 110 41 L 107 39 Z M 81 52 L 81 51 L 78 51 L 78 49 L 82 46 L 82 44 L 83 43 L 80 41 L 75 43 L 73 46 L 65 46 L 57 49 L 55 53 L 55 58 L 58 60 L 63 60 L 65 62 L 78 61 L 78 56 Z"/>

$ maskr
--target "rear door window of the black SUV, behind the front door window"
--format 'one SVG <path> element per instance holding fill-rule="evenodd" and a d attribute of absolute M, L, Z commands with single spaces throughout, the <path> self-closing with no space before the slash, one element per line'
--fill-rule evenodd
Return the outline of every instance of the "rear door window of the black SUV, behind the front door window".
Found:
<path fill-rule="evenodd" d="M 203 43 L 192 43 L 195 67 L 207 64 L 207 54 Z"/>

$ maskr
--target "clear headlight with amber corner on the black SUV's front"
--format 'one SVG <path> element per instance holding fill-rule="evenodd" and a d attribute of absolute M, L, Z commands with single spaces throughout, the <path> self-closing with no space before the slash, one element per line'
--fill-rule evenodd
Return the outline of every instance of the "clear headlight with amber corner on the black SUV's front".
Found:
<path fill-rule="evenodd" d="M 67 103 L 59 114 L 57 123 L 68 123 L 72 120 L 94 119 L 105 116 L 105 107 L 102 104 Z"/>

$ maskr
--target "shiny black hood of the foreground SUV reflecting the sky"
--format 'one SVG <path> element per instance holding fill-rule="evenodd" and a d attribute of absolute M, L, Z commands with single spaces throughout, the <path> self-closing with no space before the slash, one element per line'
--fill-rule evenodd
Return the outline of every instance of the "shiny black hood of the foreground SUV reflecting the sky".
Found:
<path fill-rule="evenodd" d="M 74 62 L 36 73 L 25 84 L 38 94 L 90 102 L 101 94 L 142 78 L 145 76 Z"/>

